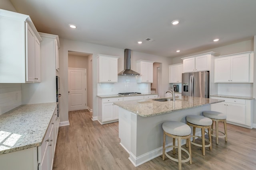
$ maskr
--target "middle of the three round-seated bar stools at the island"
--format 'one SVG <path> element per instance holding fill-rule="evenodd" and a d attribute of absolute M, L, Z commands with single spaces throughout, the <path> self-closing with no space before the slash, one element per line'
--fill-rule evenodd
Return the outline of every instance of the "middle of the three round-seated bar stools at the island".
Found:
<path fill-rule="evenodd" d="M 211 131 L 212 119 L 200 115 L 188 115 L 186 116 L 186 120 L 187 124 L 193 127 L 193 142 L 191 144 L 202 147 L 202 154 L 205 155 L 205 147 L 210 147 L 210 150 L 212 150 L 212 136 L 209 135 L 209 140 L 204 136 L 205 129 L 208 129 L 208 132 Z M 195 135 L 196 127 L 201 129 L 202 137 Z M 202 139 L 202 145 L 195 143 L 195 137 Z M 209 144 L 205 145 L 205 141 Z"/>

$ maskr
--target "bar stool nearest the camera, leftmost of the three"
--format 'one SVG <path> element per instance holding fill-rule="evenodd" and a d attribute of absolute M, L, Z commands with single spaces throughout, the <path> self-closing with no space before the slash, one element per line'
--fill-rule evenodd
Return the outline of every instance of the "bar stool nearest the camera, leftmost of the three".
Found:
<path fill-rule="evenodd" d="M 191 145 L 190 145 L 190 133 L 191 129 L 185 123 L 179 121 L 167 121 L 162 124 L 162 128 L 164 130 L 164 144 L 163 144 L 163 154 L 162 158 L 164 160 L 164 156 L 166 155 L 171 160 L 178 162 L 178 168 L 181 170 L 181 163 L 190 161 L 192 164 L 191 158 Z M 172 146 L 165 147 L 166 135 L 172 137 Z M 178 139 L 178 146 L 175 145 L 175 139 Z M 181 139 L 186 139 L 186 143 L 188 143 L 188 150 L 189 152 L 181 147 Z M 178 148 L 178 159 L 171 157 L 167 154 L 166 148 L 172 147 L 172 153 L 175 154 L 175 148 Z M 188 154 L 188 158 L 182 160 L 181 159 L 181 150 Z"/>

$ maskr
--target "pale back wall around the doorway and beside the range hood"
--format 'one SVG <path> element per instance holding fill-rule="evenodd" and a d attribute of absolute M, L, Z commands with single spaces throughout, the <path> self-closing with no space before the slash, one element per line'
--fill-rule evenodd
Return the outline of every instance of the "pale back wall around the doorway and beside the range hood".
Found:
<path fill-rule="evenodd" d="M 119 56 L 118 59 L 118 72 L 121 72 L 124 69 L 124 49 L 117 49 L 112 47 L 106 47 L 102 45 L 95 45 L 90 43 L 84 43 L 79 41 L 70 41 L 67 39 L 60 39 L 60 44 L 62 45 L 60 48 L 60 77 L 62 77 L 60 86 L 62 89 L 62 104 L 61 110 L 62 114 L 60 115 L 60 121 L 68 121 L 68 51 L 77 51 L 82 53 L 90 53 L 92 54 L 92 101 L 93 101 L 93 117 L 97 116 L 97 62 L 96 55 L 104 54 L 104 55 L 113 55 Z M 164 92 L 169 88 L 169 64 L 171 64 L 171 59 L 156 55 L 149 55 L 146 53 L 138 53 L 136 51 L 132 51 L 131 57 L 131 69 L 136 70 L 136 61 L 137 60 L 148 60 L 154 61 L 162 64 L 162 78 L 160 78 L 161 91 L 159 92 L 160 96 L 164 96 Z M 121 78 L 122 80 L 122 78 Z M 108 84 L 108 89 L 116 86 L 115 84 Z M 138 85 L 143 86 L 143 85 Z M 149 86 L 150 87 L 150 86 Z"/>

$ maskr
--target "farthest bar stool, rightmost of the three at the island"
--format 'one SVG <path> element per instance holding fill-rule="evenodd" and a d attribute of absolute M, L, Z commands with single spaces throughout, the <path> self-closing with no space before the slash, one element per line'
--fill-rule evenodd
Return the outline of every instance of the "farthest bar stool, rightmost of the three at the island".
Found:
<path fill-rule="evenodd" d="M 228 141 L 228 137 L 227 137 L 227 123 L 226 123 L 226 118 L 227 116 L 224 113 L 218 112 L 218 111 L 203 111 L 203 115 L 205 117 L 208 117 L 210 119 L 212 119 L 212 121 L 215 121 L 215 129 L 213 129 L 213 122 L 212 122 L 212 131 L 211 134 L 213 137 L 216 137 L 216 144 L 219 143 L 219 137 L 225 138 L 225 142 Z M 218 122 L 223 122 L 224 123 L 224 132 L 222 131 L 218 131 Z M 213 134 L 213 131 L 215 130 L 215 134 Z M 223 135 L 219 135 L 219 132 L 222 133 Z"/>

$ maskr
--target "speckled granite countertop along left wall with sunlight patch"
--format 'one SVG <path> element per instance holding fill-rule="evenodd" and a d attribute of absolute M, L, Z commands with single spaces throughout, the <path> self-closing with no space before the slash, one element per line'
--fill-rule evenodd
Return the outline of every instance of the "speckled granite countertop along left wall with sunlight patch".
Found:
<path fill-rule="evenodd" d="M 0 115 L 0 154 L 41 146 L 56 104 L 21 105 Z"/>

